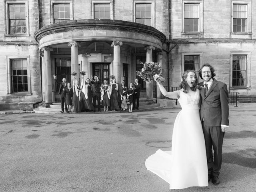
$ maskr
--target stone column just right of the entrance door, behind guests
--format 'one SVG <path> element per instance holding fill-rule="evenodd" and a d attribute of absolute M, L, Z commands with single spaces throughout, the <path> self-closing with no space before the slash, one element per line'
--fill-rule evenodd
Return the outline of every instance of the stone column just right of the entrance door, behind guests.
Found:
<path fill-rule="evenodd" d="M 122 81 L 122 66 L 121 66 L 121 54 L 120 46 L 123 43 L 120 41 L 113 41 L 111 46 L 114 47 L 114 60 L 113 60 L 113 75 L 116 78 L 116 82 L 120 83 Z"/>

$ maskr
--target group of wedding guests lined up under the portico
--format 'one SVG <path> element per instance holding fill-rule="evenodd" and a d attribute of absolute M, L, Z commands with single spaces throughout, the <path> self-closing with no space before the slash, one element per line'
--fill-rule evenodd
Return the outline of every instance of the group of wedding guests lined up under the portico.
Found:
<path fill-rule="evenodd" d="M 101 110 L 100 101 L 104 107 L 104 112 L 109 110 L 127 110 L 132 112 L 139 109 L 141 85 L 138 79 L 135 83 L 130 83 L 128 87 L 124 85 L 124 81 L 118 84 L 114 76 L 110 76 L 110 84 L 107 80 L 101 82 L 98 75 L 91 76 L 91 79 L 81 76 L 81 85 L 73 76 L 73 84 L 66 81 L 66 78 L 59 82 L 56 75 L 53 75 L 55 82 L 59 85 L 58 94 L 60 95 L 61 113 L 64 109 L 67 113 L 71 112 L 95 112 Z M 65 107 L 64 107 L 65 104 Z"/>

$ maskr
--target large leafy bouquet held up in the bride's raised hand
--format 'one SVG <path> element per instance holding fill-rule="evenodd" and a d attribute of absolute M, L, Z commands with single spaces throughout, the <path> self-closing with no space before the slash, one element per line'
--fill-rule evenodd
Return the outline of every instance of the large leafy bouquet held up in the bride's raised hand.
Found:
<path fill-rule="evenodd" d="M 165 80 L 161 76 L 162 75 L 162 73 L 161 73 L 162 67 L 159 66 L 159 62 L 157 62 L 157 63 L 154 63 L 154 62 L 150 62 L 150 63 L 140 62 L 140 64 L 143 64 L 144 66 L 141 69 L 141 71 L 136 71 L 136 72 L 137 72 L 137 75 L 140 76 L 144 81 L 150 82 L 150 80 L 153 79 L 153 76 L 155 74 L 157 74 L 157 75 L 159 75 L 159 77 L 156 79 L 156 81 L 159 84 L 164 83 Z"/>

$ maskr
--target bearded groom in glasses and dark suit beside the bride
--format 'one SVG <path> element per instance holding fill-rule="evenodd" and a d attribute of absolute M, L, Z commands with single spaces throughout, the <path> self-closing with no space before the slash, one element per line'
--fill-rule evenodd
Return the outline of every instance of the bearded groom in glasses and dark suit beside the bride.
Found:
<path fill-rule="evenodd" d="M 229 108 L 227 85 L 214 79 L 215 75 L 214 68 L 210 64 L 204 64 L 199 70 L 199 76 L 204 80 L 201 82 L 204 88 L 200 90 L 200 118 L 206 146 L 208 181 L 212 178 L 212 183 L 218 185 L 223 138 L 229 126 Z"/>

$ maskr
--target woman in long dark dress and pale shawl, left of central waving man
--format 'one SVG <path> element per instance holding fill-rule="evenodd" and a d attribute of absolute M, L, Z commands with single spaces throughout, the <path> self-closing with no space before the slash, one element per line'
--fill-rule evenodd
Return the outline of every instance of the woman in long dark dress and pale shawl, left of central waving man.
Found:
<path fill-rule="evenodd" d="M 84 76 L 82 76 L 82 93 L 81 93 L 81 104 L 82 109 L 86 112 L 90 110 L 94 110 L 94 106 L 92 104 L 92 84 L 90 83 L 90 79 L 87 78 L 84 82 Z"/>

